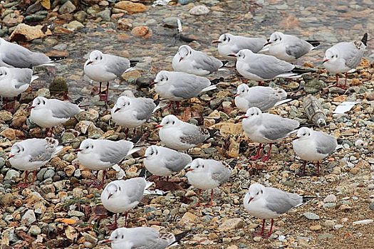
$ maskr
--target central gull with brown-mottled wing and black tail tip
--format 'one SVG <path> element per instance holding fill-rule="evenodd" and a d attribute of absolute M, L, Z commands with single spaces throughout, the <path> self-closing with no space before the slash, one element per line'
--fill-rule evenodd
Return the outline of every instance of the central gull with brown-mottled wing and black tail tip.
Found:
<path fill-rule="evenodd" d="M 182 151 L 191 149 L 217 134 L 217 130 L 183 122 L 175 115 L 165 116 L 156 128 L 160 128 L 160 139 L 166 147 Z"/>

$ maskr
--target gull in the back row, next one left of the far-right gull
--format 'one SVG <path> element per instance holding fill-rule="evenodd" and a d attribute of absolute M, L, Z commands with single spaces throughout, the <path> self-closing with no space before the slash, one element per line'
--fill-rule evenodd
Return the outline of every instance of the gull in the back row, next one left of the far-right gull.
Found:
<path fill-rule="evenodd" d="M 296 36 L 274 32 L 271 34 L 269 42 L 264 44 L 264 48 L 259 53 L 266 53 L 279 58 L 279 60 L 293 62 L 320 44 L 321 41 L 304 41 Z"/>

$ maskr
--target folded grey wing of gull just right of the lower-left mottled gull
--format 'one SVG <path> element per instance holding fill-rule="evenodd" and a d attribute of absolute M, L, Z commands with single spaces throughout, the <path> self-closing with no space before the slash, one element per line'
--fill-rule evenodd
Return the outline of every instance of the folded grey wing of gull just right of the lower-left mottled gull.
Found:
<path fill-rule="evenodd" d="M 110 164 L 118 164 L 124 159 L 130 149 L 133 148 L 133 143 L 128 141 L 112 142 L 106 140 L 98 140 L 102 142 L 100 147 L 100 160 L 110 162 Z"/>

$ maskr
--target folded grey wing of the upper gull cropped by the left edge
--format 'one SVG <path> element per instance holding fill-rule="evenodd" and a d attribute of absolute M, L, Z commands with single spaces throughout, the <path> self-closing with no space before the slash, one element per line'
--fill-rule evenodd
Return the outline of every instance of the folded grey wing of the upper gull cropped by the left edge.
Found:
<path fill-rule="evenodd" d="M 28 68 L 30 65 L 42 65 L 51 63 L 47 55 L 29 51 L 22 46 L 7 43 L 8 53 L 4 53 L 1 60 L 15 68 Z"/>

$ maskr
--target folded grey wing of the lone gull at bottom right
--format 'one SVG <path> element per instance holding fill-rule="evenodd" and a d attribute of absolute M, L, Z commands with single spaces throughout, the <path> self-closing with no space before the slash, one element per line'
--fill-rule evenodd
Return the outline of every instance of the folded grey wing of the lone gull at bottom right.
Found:
<path fill-rule="evenodd" d="M 303 198 L 298 194 L 291 194 L 274 188 L 266 188 L 266 192 L 268 192 L 265 196 L 266 208 L 275 213 L 286 213 L 291 208 L 303 203 Z"/>

